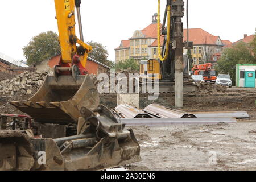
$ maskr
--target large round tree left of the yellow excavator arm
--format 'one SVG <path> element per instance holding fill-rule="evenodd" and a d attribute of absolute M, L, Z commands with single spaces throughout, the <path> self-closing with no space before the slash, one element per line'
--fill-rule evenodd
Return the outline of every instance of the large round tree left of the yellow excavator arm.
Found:
<path fill-rule="evenodd" d="M 47 60 L 60 53 L 58 35 L 48 31 L 34 36 L 27 46 L 23 47 L 27 64 L 32 65 Z"/>

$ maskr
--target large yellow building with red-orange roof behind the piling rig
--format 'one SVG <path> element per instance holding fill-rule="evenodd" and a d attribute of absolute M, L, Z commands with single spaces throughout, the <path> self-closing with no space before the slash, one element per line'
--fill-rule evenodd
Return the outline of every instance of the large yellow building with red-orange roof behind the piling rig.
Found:
<path fill-rule="evenodd" d="M 187 40 L 187 29 L 184 29 L 184 42 Z M 115 61 L 127 59 L 158 59 L 158 23 L 157 13 L 152 16 L 152 23 L 143 30 L 134 31 L 129 40 L 122 40 L 120 46 L 115 48 Z M 160 44 L 163 45 L 163 36 Z M 213 55 L 219 53 L 223 46 L 232 42 L 221 40 L 220 36 L 214 36 L 202 28 L 189 29 L 189 41 L 193 42 L 192 58 L 194 64 L 213 61 Z M 187 49 L 184 49 L 187 54 Z M 211 60 L 212 59 L 212 60 Z"/>

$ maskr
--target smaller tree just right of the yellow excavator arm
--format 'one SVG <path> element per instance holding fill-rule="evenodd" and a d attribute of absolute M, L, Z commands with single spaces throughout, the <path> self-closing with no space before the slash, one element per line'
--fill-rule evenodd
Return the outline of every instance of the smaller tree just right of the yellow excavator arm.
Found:
<path fill-rule="evenodd" d="M 99 61 L 102 64 L 111 66 L 111 61 L 108 60 L 109 53 L 106 50 L 106 46 L 102 46 L 101 43 L 90 41 L 88 42 L 90 46 L 93 47 L 92 52 L 89 53 L 89 57 L 94 60 Z"/>

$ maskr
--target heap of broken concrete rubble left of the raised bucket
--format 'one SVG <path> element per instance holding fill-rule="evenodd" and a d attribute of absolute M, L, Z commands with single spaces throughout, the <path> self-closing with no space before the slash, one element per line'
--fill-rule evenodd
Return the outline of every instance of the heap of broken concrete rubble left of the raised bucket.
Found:
<path fill-rule="evenodd" d="M 24 72 L 12 79 L 0 81 L 0 94 L 14 96 L 15 94 L 32 94 L 43 84 L 49 72 Z"/>

